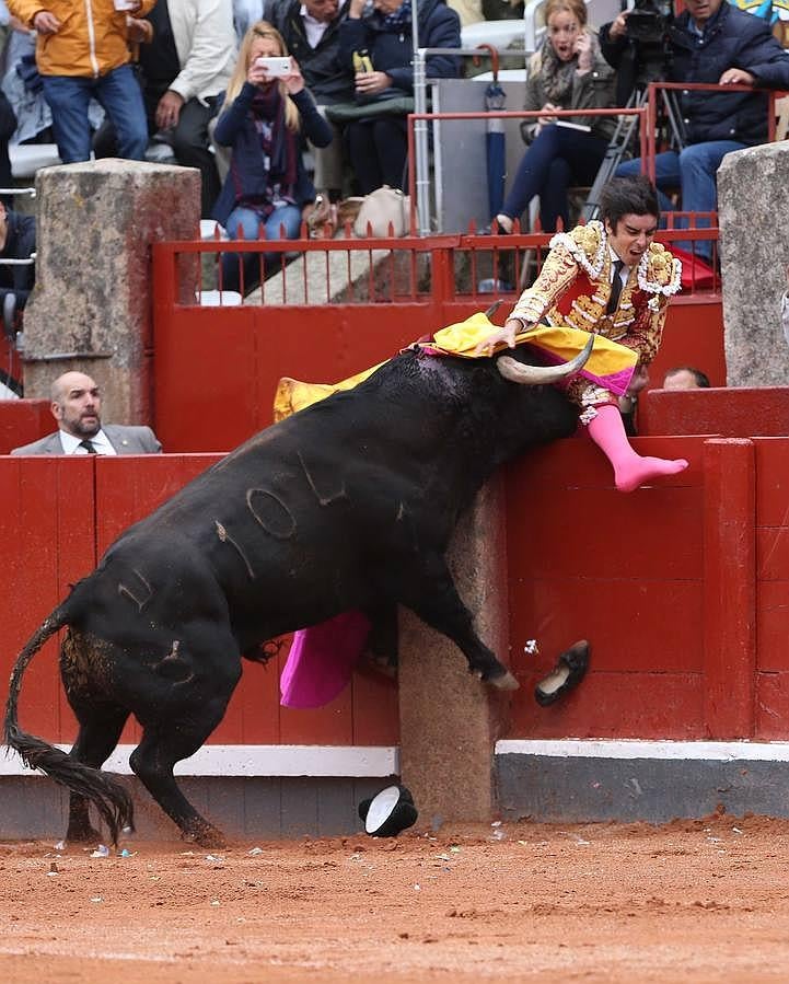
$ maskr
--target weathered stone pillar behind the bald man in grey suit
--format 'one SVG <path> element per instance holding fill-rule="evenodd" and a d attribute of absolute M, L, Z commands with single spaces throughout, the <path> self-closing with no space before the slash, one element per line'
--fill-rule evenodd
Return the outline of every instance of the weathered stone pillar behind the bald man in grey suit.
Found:
<path fill-rule="evenodd" d="M 192 167 L 101 160 L 36 175 L 36 288 L 25 311 L 25 396 L 78 369 L 113 424 L 150 424 L 151 244 L 199 233 Z"/>

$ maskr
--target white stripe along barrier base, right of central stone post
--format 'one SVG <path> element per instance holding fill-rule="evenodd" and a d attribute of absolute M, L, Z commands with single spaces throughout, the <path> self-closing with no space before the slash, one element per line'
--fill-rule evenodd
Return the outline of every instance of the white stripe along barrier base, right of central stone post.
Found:
<path fill-rule="evenodd" d="M 497 755 L 550 759 L 692 759 L 705 762 L 789 762 L 786 741 L 642 741 L 640 739 L 502 739 Z"/>

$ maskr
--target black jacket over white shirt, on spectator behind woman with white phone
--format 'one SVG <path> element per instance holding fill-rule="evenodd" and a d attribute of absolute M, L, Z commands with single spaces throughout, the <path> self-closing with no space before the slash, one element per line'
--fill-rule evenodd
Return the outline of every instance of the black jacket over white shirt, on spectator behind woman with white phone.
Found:
<path fill-rule="evenodd" d="M 264 20 L 282 35 L 288 51 L 299 62 L 306 88 L 321 105 L 353 99 L 353 79 L 339 60 L 339 25 L 346 19 L 346 3 L 332 21 L 317 47 L 310 47 L 301 16 L 302 0 L 268 0 Z"/>

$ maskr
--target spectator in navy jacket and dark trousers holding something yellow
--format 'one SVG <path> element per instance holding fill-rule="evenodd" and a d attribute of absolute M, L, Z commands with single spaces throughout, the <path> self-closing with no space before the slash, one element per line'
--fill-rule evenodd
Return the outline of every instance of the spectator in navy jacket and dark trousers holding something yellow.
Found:
<path fill-rule="evenodd" d="M 408 111 L 386 112 L 386 102 L 414 93 L 410 0 L 348 0 L 348 16 L 339 28 L 340 58 L 351 73 L 357 102 L 369 115 L 348 123 L 345 139 L 359 192 L 368 195 L 381 185 L 406 185 Z M 425 48 L 460 48 L 461 22 L 444 0 L 423 0 L 418 5 L 419 44 Z M 371 70 L 355 71 L 353 55 L 367 53 Z M 426 71 L 430 79 L 460 76 L 454 55 L 431 55 Z"/>

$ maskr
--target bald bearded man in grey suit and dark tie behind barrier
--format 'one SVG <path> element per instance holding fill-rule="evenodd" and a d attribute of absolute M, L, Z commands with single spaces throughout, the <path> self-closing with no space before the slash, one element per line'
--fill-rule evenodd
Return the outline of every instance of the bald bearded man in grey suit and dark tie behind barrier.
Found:
<path fill-rule="evenodd" d="M 12 454 L 159 454 L 162 445 L 150 427 L 102 427 L 98 386 L 84 372 L 65 372 L 53 383 L 55 433 L 14 448 Z"/>

